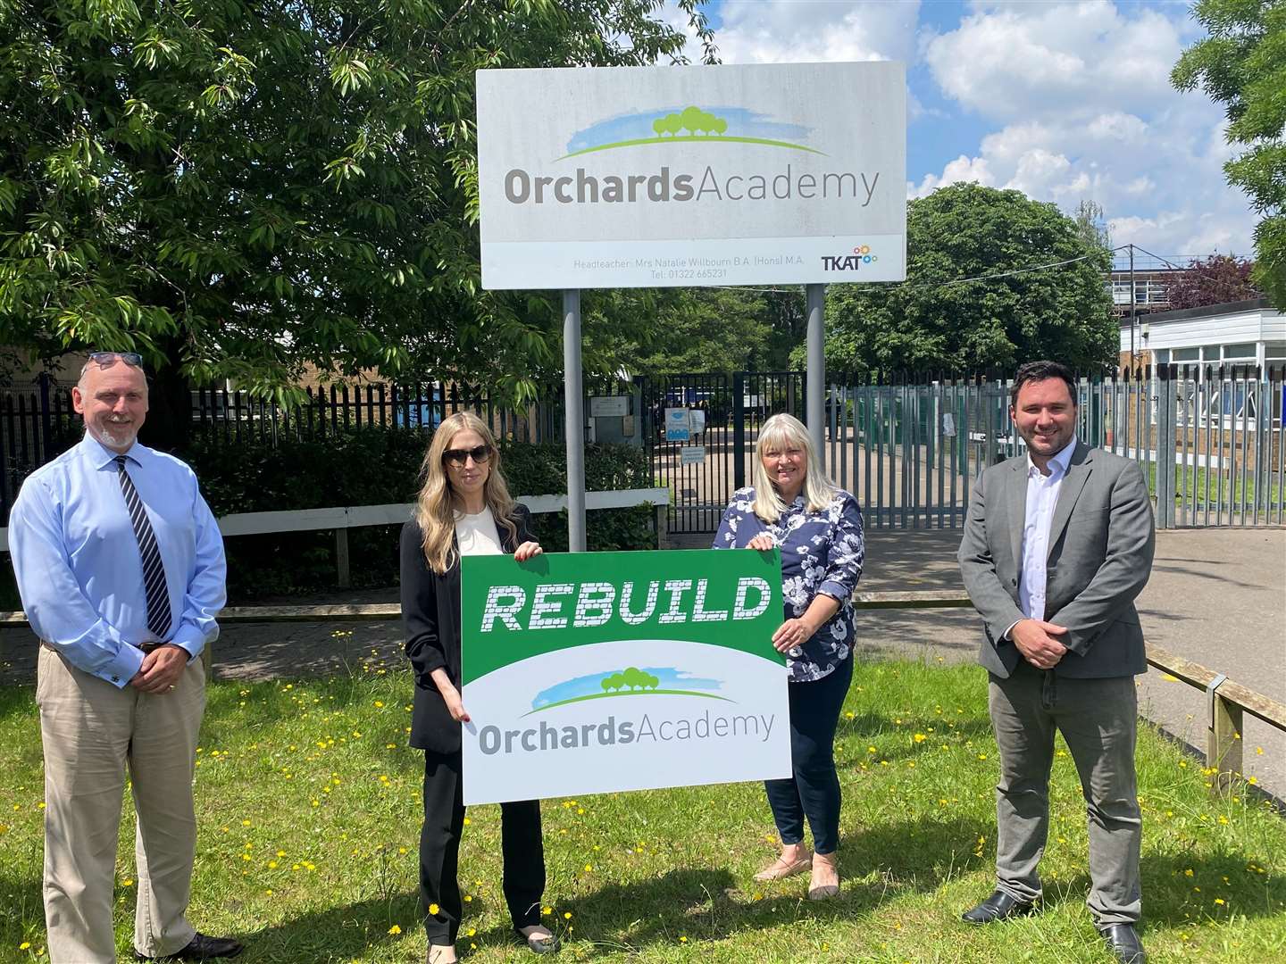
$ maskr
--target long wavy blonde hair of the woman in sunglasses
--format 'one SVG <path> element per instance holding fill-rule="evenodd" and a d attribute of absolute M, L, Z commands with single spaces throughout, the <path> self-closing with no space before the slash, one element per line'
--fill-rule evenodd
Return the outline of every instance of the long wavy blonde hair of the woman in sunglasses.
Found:
<path fill-rule="evenodd" d="M 500 450 L 496 449 L 495 436 L 486 423 L 472 411 L 458 411 L 442 419 L 442 424 L 433 432 L 433 438 L 424 452 L 424 463 L 419 468 L 421 486 L 419 496 L 415 499 L 415 522 L 423 533 L 424 559 L 428 568 L 441 576 L 457 562 L 455 550 L 455 519 L 463 514 L 463 509 L 457 505 L 455 492 L 451 490 L 451 481 L 442 465 L 442 452 L 451 446 L 451 440 L 466 429 L 477 432 L 486 447 L 491 450 L 487 463 L 487 477 L 482 486 L 482 496 L 486 500 L 496 526 L 503 526 L 509 533 L 509 540 L 518 537 L 518 527 L 513 521 L 514 505 L 509 487 L 500 474 Z"/>

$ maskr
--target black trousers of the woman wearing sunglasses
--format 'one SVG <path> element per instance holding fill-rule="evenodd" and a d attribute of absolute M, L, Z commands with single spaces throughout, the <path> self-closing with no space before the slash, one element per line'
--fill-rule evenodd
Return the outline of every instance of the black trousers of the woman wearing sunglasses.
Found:
<path fill-rule="evenodd" d="M 419 832 L 419 904 L 430 943 L 455 943 L 460 929 L 460 753 L 424 752 L 424 825 Z M 545 892 L 545 850 L 540 835 L 540 802 L 500 805 L 500 851 L 504 857 L 504 900 L 514 928 L 540 923 Z M 430 909 L 436 906 L 436 913 Z"/>

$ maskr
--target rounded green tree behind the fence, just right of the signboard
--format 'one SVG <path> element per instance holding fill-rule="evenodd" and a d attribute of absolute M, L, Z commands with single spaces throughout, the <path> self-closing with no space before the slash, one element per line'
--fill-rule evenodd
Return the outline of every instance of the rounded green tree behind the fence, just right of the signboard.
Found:
<path fill-rule="evenodd" d="M 1053 359 L 1112 365 L 1110 253 L 1055 204 L 953 184 L 907 206 L 907 280 L 832 285 L 827 366 L 971 373 Z M 801 353 L 796 348 L 796 353 Z"/>

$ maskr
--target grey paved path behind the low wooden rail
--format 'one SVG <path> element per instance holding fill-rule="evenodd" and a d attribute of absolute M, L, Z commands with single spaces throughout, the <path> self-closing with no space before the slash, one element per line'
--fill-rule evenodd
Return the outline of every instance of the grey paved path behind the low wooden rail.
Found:
<path fill-rule="evenodd" d="M 709 536 L 682 537 L 688 548 Z M 867 535 L 863 589 L 962 589 L 955 568 L 959 533 L 910 530 Z M 394 589 L 282 603 L 394 603 Z M 1157 535 L 1152 580 L 1139 599 L 1147 638 L 1178 656 L 1286 702 L 1286 530 L 1181 530 Z M 860 652 L 868 657 L 971 661 L 977 649 L 971 609 L 887 609 L 859 616 Z M 364 659 L 399 658 L 397 621 L 369 623 L 229 625 L 216 644 L 224 679 L 271 679 L 360 672 Z M 35 639 L 0 631 L 0 681 L 30 680 Z M 981 671 L 980 671 L 981 672 Z M 1205 745 L 1205 694 L 1166 681 L 1152 670 L 1139 680 L 1141 711 L 1172 735 Z M 981 676 L 979 685 L 981 685 Z M 1258 749 L 1262 748 L 1260 754 Z M 1286 798 L 1286 734 L 1247 717 L 1245 771 Z"/>

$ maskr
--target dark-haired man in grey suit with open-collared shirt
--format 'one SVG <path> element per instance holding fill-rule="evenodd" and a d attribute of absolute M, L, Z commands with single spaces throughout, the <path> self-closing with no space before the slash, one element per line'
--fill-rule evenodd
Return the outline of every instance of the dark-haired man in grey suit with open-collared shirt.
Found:
<path fill-rule="evenodd" d="M 1152 567 L 1147 483 L 1134 461 L 1076 440 L 1076 384 L 1064 365 L 1022 365 L 1010 415 L 1028 454 L 979 478 L 959 548 L 1001 748 L 997 887 L 963 919 L 1038 909 L 1058 730 L 1089 814 L 1087 904 L 1116 958 L 1142 964 L 1134 676 L 1147 663 L 1134 598 Z"/>

